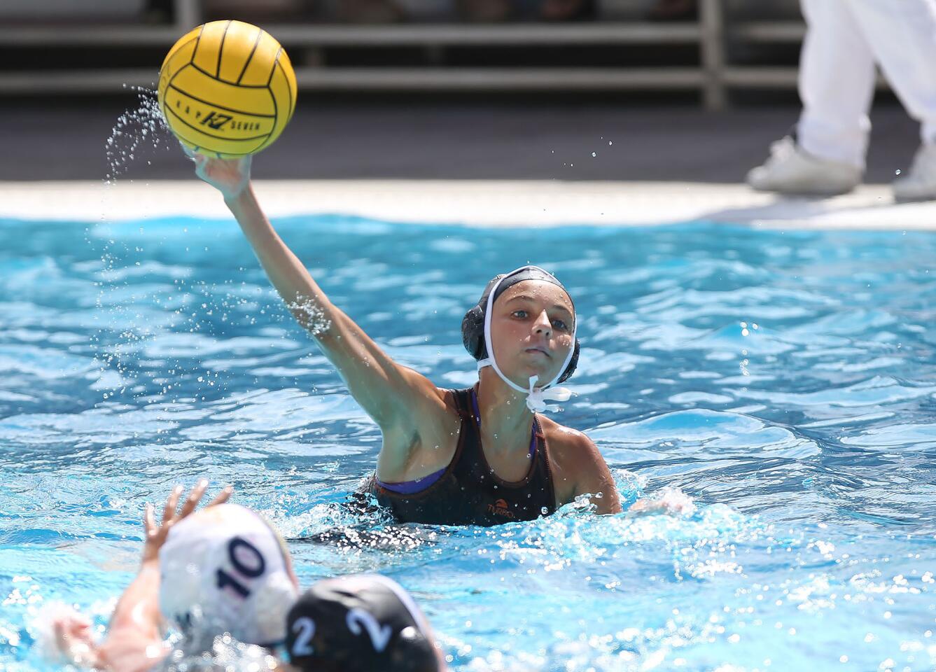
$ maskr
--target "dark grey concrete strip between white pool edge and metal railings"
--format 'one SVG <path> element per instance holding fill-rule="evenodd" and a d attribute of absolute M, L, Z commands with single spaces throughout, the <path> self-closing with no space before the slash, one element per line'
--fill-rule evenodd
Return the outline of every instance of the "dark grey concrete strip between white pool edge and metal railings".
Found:
<path fill-rule="evenodd" d="M 336 102 L 302 95 L 260 179 L 589 180 L 739 183 L 797 120 L 795 105 L 710 114 L 691 104 L 574 101 Z M 100 180 L 105 143 L 132 97 L 0 101 L 0 180 Z M 872 115 L 869 183 L 910 164 L 917 125 L 896 103 Z M 125 139 L 124 139 L 125 141 Z M 613 142 L 613 144 L 608 144 Z M 595 156 L 592 157 L 592 152 Z M 147 165 L 152 161 L 152 165 Z M 175 147 L 141 147 L 125 179 L 188 179 Z"/>

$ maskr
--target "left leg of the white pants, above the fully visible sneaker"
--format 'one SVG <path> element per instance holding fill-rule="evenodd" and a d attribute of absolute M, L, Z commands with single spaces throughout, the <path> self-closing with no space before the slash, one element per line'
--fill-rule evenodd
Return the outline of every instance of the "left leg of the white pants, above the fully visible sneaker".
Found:
<path fill-rule="evenodd" d="M 899 13 L 895 6 L 914 4 L 916 0 L 884 2 L 891 12 Z M 870 132 L 868 110 L 874 95 L 874 52 L 862 30 L 863 22 L 856 17 L 857 9 L 866 4 L 867 0 L 800 0 L 808 30 L 799 58 L 803 111 L 797 124 L 797 142 L 814 157 L 861 171 Z M 884 30 L 875 35 L 878 41 L 889 37 L 885 37 Z"/>

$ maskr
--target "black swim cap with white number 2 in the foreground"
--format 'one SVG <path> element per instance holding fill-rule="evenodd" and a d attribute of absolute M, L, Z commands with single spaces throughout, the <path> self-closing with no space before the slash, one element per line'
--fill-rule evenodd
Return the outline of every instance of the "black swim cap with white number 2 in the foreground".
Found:
<path fill-rule="evenodd" d="M 439 672 L 419 607 L 378 575 L 329 578 L 303 593 L 286 619 L 286 649 L 303 672 Z"/>

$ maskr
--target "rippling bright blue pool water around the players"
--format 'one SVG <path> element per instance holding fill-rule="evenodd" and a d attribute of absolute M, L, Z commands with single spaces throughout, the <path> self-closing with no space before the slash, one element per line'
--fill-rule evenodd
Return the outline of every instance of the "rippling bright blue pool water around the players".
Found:
<path fill-rule="evenodd" d="M 142 504 L 233 483 L 300 579 L 414 592 L 456 670 L 936 667 L 936 235 L 746 227 L 277 223 L 330 297 L 440 386 L 475 380 L 461 315 L 526 262 L 570 287 L 587 431 L 626 499 L 395 543 L 302 537 L 380 435 L 296 327 L 236 225 L 0 222 L 0 669 L 48 669 L 35 615 L 103 628 Z"/>

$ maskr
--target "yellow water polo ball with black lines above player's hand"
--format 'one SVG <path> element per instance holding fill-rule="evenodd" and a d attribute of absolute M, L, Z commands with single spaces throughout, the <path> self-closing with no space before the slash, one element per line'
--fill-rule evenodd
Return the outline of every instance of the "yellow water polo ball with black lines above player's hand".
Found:
<path fill-rule="evenodd" d="M 296 74 L 256 25 L 212 21 L 187 33 L 159 70 L 159 109 L 197 153 L 237 158 L 269 147 L 296 110 Z"/>

